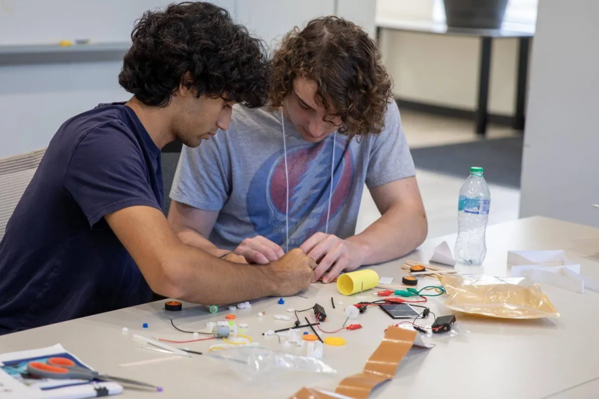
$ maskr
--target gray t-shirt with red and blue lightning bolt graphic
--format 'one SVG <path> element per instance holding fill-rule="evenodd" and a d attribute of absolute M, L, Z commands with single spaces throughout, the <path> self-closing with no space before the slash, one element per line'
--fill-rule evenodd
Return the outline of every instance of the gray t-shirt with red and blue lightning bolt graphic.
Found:
<path fill-rule="evenodd" d="M 245 238 L 267 237 L 285 249 L 286 173 L 280 111 L 235 107 L 229 129 L 198 148 L 183 146 L 171 199 L 219 216 L 210 241 L 234 249 Z M 289 249 L 325 232 L 333 138 L 310 143 L 285 119 L 289 175 Z M 359 142 L 358 142 L 359 141 Z M 328 233 L 355 234 L 364 183 L 368 188 L 414 176 L 397 104 L 385 130 L 347 141 L 335 136 L 333 195 Z"/>

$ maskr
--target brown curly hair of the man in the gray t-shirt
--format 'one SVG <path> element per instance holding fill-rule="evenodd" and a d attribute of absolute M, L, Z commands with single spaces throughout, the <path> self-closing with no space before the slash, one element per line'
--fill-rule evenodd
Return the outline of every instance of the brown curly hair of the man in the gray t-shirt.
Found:
<path fill-rule="evenodd" d="M 376 43 L 359 26 L 338 17 L 322 17 L 296 27 L 274 52 L 268 99 L 282 105 L 294 79 L 316 81 L 316 91 L 327 111 L 341 117 L 339 133 L 378 134 L 385 128 L 385 112 L 393 98 L 391 80 Z"/>

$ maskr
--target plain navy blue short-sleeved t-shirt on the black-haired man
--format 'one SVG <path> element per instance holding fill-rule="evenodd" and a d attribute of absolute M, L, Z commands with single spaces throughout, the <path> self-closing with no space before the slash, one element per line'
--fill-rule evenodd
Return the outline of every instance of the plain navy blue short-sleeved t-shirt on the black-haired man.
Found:
<path fill-rule="evenodd" d="M 104 215 L 161 209 L 163 193 L 161 152 L 131 108 L 63 123 L 0 242 L 0 334 L 152 300 Z"/>

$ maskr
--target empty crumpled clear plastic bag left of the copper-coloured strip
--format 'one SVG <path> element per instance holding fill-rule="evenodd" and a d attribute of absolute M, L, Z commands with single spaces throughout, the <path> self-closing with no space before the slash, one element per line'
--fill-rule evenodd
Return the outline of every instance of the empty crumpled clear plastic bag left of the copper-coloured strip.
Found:
<path fill-rule="evenodd" d="M 239 346 L 205 353 L 211 358 L 226 360 L 232 370 L 246 379 L 271 376 L 273 371 L 309 371 L 311 373 L 337 373 L 322 361 L 306 356 L 270 351 L 256 346 Z"/>

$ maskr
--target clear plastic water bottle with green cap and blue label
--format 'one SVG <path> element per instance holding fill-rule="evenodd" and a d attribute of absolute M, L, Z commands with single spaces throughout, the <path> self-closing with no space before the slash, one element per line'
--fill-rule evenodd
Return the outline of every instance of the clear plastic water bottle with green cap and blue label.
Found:
<path fill-rule="evenodd" d="M 458 240 L 453 254 L 459 263 L 480 265 L 485 260 L 485 232 L 489 221 L 491 193 L 482 167 L 471 167 L 459 190 Z"/>

